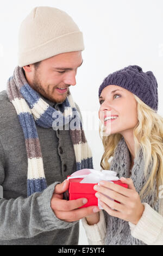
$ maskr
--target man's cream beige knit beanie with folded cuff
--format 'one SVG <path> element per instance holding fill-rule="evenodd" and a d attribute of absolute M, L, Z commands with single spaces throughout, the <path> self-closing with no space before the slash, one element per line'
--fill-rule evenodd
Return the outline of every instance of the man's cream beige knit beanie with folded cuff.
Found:
<path fill-rule="evenodd" d="M 83 50 L 83 33 L 65 11 L 35 7 L 21 23 L 18 35 L 20 67 L 60 53 Z"/>

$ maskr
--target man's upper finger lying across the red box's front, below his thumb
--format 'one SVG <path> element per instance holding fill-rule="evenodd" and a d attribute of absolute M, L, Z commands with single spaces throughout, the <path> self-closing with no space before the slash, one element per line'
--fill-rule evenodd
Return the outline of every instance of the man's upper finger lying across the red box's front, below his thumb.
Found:
<path fill-rule="evenodd" d="M 55 197 L 55 194 L 54 194 L 54 197 L 51 200 L 51 207 L 54 211 L 55 210 L 71 211 L 74 209 L 78 209 L 80 206 L 83 206 L 86 203 L 87 203 L 86 198 L 79 198 L 76 200 L 67 201 L 67 200 L 62 200 L 62 199 Z"/>

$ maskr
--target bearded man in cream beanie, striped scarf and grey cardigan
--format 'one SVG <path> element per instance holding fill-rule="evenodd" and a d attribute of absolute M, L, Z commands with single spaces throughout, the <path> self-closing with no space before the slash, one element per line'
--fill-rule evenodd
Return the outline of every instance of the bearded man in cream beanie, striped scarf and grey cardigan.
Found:
<path fill-rule="evenodd" d="M 36 7 L 18 47 L 18 66 L 0 93 L 0 245 L 77 245 L 80 218 L 99 211 L 78 209 L 84 198 L 65 200 L 68 181 L 61 183 L 92 168 L 84 131 L 63 129 L 79 111 L 69 88 L 83 63 L 83 35 L 64 11 Z"/>

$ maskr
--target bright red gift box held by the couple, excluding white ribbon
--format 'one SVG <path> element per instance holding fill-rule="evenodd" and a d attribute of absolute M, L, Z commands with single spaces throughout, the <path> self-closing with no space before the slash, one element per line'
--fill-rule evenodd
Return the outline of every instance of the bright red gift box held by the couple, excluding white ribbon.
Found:
<path fill-rule="evenodd" d="M 69 177 L 69 176 L 67 176 Z M 70 186 L 68 189 L 69 193 L 69 200 L 74 200 L 78 198 L 86 198 L 88 202 L 84 204 L 83 206 L 80 206 L 79 208 L 84 208 L 92 205 L 98 206 L 98 198 L 95 196 L 95 193 L 97 191 L 93 190 L 93 187 L 97 185 L 98 183 L 80 183 L 80 181 L 83 180 L 83 178 L 74 178 L 69 179 Z M 124 184 L 121 182 L 121 180 L 111 180 L 114 182 L 114 184 L 118 184 L 122 187 L 128 188 L 127 184 Z M 115 202 L 117 202 L 115 200 Z M 119 203 L 119 202 L 117 202 Z"/>

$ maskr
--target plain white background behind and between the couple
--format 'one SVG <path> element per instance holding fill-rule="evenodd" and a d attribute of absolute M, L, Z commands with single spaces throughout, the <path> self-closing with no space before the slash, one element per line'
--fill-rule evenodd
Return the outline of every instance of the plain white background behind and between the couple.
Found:
<path fill-rule="evenodd" d="M 159 110 L 163 113 L 163 1 L 162 0 L 28 0 L 3 1 L 0 7 L 0 92 L 17 65 L 18 29 L 36 6 L 66 11 L 84 35 L 83 65 L 71 88 L 81 111 L 97 112 L 98 88 L 111 72 L 128 65 L 153 71 L 158 81 Z M 83 116 L 84 117 L 84 116 Z M 84 118 L 85 121 L 85 118 Z M 85 127 L 94 168 L 99 169 L 103 147 L 96 127 Z M 85 121 L 86 124 L 86 121 Z M 80 245 L 87 245 L 80 223 Z"/>

